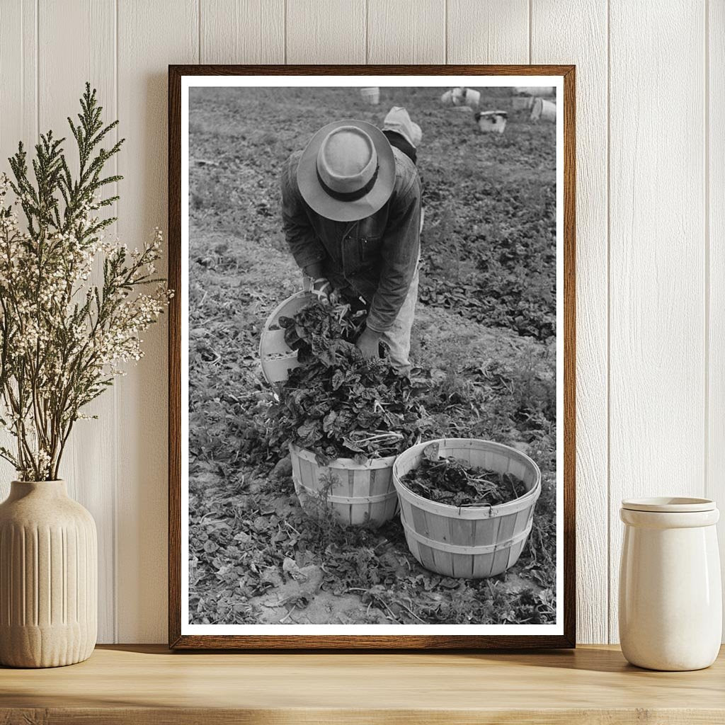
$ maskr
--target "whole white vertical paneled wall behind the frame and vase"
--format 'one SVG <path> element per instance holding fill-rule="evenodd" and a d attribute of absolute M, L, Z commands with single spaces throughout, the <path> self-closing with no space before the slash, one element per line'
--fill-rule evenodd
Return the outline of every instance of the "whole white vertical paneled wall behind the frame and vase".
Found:
<path fill-rule="evenodd" d="M 722 0 L 0 0 L 0 158 L 85 80 L 128 138 L 120 221 L 166 223 L 170 63 L 577 65 L 579 641 L 616 642 L 622 497 L 725 500 Z M 2 164 L 3 170 L 7 170 Z M 166 329 L 66 459 L 102 642 L 166 637 Z M 0 468 L 0 495 L 12 471 Z M 725 547 L 725 534 L 721 535 Z"/>

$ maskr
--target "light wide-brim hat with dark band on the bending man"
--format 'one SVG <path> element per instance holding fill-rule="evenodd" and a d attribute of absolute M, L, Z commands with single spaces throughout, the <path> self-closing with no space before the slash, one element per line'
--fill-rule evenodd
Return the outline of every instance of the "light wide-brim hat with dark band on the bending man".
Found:
<path fill-rule="evenodd" d="M 345 141 L 352 154 L 345 168 Z M 359 163 L 358 163 L 359 160 Z M 351 222 L 374 214 L 395 186 L 395 157 L 384 133 L 372 123 L 328 123 L 310 139 L 297 165 L 305 202 L 326 219 Z"/>

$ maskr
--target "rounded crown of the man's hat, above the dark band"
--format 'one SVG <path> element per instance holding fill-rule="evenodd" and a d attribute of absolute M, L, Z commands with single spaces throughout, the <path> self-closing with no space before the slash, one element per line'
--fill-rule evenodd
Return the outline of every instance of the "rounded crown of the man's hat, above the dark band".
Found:
<path fill-rule="evenodd" d="M 337 194 L 354 194 L 373 178 L 378 167 L 375 144 L 357 126 L 339 126 L 328 133 L 317 156 L 318 175 Z"/>

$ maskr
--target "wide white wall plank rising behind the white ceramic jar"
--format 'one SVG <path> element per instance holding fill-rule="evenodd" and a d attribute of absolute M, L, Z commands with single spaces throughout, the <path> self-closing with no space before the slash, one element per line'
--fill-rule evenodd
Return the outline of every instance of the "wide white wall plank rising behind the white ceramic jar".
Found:
<path fill-rule="evenodd" d="M 691 0 L 610 7 L 611 602 L 619 500 L 705 491 L 704 13 Z M 656 112 L 674 91 L 681 112 Z"/>

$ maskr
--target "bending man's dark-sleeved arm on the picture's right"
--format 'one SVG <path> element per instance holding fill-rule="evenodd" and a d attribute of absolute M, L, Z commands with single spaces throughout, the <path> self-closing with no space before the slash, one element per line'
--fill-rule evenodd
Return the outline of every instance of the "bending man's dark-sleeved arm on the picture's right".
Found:
<path fill-rule="evenodd" d="M 383 236 L 383 270 L 367 321 L 368 330 L 378 336 L 392 326 L 405 302 L 421 251 L 421 181 L 413 173 L 411 183 L 392 201 Z"/>

